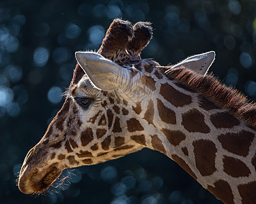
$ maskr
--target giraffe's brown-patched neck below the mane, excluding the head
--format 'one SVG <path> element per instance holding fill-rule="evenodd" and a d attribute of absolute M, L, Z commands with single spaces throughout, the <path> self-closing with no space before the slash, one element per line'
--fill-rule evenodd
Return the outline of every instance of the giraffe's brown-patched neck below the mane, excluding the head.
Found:
<path fill-rule="evenodd" d="M 256 188 L 253 126 L 175 80 L 156 87 L 159 95 L 144 117 L 156 129 L 149 127 L 147 146 L 175 160 L 218 199 L 245 202 Z"/>

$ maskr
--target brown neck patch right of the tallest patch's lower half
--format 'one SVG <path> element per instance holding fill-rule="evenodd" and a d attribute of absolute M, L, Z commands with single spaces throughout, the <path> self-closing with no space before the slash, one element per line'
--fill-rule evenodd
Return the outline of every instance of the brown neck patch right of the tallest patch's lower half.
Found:
<path fill-rule="evenodd" d="M 237 158 L 224 156 L 223 166 L 224 171 L 232 177 L 248 176 L 251 173 L 246 164 Z"/>

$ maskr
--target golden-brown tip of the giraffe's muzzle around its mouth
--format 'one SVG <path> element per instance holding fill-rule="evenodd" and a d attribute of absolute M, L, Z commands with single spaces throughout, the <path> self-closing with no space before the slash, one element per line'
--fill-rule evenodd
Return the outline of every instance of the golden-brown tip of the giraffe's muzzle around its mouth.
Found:
<path fill-rule="evenodd" d="M 51 165 L 47 169 L 38 171 L 38 169 L 30 169 L 28 166 L 20 171 L 18 180 L 18 188 L 25 194 L 40 193 L 47 190 L 53 182 L 59 177 L 62 170 Z"/>

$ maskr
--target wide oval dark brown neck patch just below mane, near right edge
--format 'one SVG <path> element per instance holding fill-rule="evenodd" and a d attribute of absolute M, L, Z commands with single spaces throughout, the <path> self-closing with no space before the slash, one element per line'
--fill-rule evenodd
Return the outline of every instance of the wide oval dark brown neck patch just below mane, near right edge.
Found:
<path fill-rule="evenodd" d="M 217 129 L 232 128 L 233 126 L 240 124 L 238 119 L 227 112 L 213 114 L 210 116 L 210 120 Z"/>

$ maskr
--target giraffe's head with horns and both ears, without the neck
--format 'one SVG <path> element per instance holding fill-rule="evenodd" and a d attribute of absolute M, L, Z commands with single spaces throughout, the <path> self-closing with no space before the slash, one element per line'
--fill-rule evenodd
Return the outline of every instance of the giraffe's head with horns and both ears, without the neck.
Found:
<path fill-rule="evenodd" d="M 165 79 L 158 63 L 141 60 L 141 50 L 151 38 L 149 23 L 132 27 L 116 19 L 98 53 L 76 52 L 79 64 L 66 101 L 20 169 L 22 192 L 46 190 L 63 169 L 102 163 L 149 146 L 147 135 L 157 134 L 155 95 Z M 178 67 L 186 65 L 202 74 L 213 59 L 214 52 L 208 52 L 187 58 Z"/>

